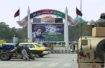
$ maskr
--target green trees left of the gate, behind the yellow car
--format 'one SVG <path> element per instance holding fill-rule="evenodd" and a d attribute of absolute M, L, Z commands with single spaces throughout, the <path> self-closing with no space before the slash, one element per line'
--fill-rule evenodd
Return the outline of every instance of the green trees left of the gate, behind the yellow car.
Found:
<path fill-rule="evenodd" d="M 10 28 L 5 22 L 0 22 L 0 39 L 12 40 L 13 36 L 23 39 L 27 37 L 27 27 Z"/>

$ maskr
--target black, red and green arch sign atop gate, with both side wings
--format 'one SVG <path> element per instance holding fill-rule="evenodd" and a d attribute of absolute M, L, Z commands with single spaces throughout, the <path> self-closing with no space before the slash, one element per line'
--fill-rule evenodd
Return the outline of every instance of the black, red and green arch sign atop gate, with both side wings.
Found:
<path fill-rule="evenodd" d="M 65 13 L 58 11 L 58 10 L 53 10 L 53 9 L 42 9 L 42 10 L 35 11 L 30 14 L 30 19 L 40 16 L 40 15 L 47 15 L 47 14 L 57 15 L 57 16 L 65 19 Z M 71 26 L 75 26 L 78 23 L 78 21 L 72 19 L 69 15 L 68 15 L 67 20 Z M 17 23 L 20 26 L 25 26 L 27 24 L 27 22 L 28 22 L 28 16 L 24 17 L 21 21 L 17 21 Z"/>

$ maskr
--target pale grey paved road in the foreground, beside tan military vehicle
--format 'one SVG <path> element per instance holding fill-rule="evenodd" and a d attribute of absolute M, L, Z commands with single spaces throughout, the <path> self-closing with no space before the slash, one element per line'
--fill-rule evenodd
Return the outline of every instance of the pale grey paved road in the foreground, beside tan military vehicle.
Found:
<path fill-rule="evenodd" d="M 1 61 L 0 68 L 78 68 L 76 54 L 50 54 L 32 61 Z"/>

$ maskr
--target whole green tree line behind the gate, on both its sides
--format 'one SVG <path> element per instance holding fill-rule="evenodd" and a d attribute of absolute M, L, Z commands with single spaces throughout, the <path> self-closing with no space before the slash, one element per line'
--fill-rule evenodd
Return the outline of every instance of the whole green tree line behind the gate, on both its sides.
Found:
<path fill-rule="evenodd" d="M 76 26 L 69 25 L 69 40 L 76 40 L 81 35 L 90 36 L 91 34 L 86 31 L 87 22 L 78 23 Z M 5 22 L 0 22 L 0 39 L 12 40 L 13 36 L 19 39 L 27 39 L 27 26 L 23 28 L 10 28 Z"/>

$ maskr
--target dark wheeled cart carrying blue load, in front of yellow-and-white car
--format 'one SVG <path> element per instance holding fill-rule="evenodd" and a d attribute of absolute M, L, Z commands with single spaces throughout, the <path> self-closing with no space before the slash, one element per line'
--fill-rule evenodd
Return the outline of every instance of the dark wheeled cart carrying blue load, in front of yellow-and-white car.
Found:
<path fill-rule="evenodd" d="M 2 44 L 2 47 L 0 49 L 0 59 L 1 60 L 10 60 L 12 57 L 16 57 L 17 59 L 23 58 L 21 53 L 19 53 L 18 51 L 14 51 L 14 52 L 10 51 L 11 49 L 14 48 L 15 45 L 16 45 L 15 43 L 5 43 L 5 44 Z M 27 53 L 29 55 L 29 58 L 34 60 L 34 57 L 33 57 L 32 54 L 34 54 L 34 53 L 36 54 L 36 52 L 38 54 L 40 54 L 43 51 L 28 50 Z"/>

